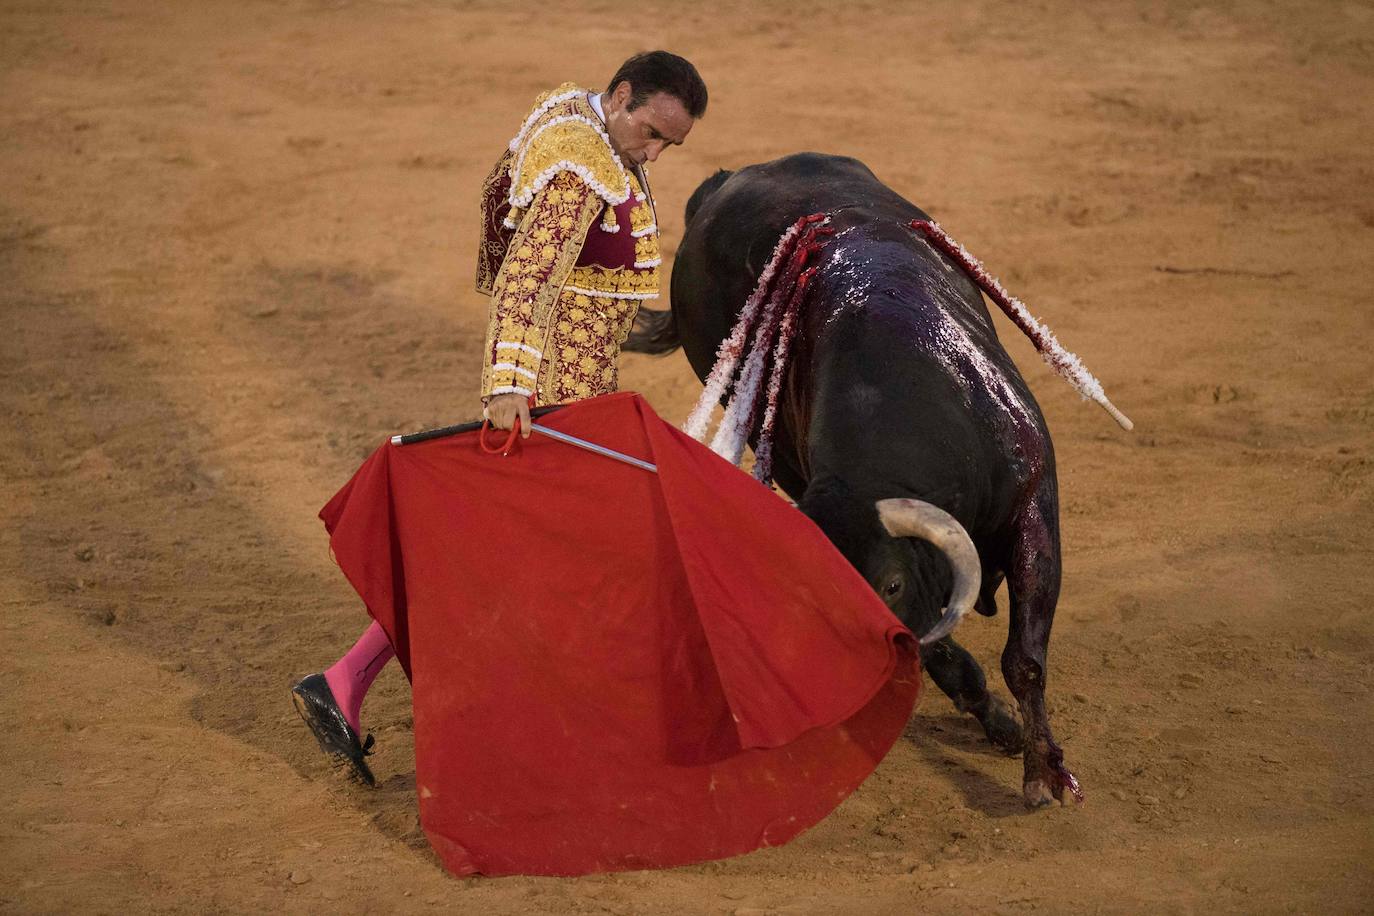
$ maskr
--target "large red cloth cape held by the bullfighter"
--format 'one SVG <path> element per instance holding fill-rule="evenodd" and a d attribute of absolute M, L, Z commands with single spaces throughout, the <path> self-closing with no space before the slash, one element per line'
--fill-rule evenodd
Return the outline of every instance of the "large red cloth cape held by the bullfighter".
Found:
<path fill-rule="evenodd" d="M 805 515 L 633 393 L 540 434 L 379 448 L 322 509 L 415 705 L 456 875 L 665 868 L 785 843 L 901 733 L 911 633 Z"/>

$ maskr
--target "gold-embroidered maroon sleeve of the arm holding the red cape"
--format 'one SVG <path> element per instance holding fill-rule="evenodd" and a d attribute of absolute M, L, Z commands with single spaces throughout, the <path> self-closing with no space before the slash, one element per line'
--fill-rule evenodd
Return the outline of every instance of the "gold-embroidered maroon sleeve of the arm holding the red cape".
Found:
<path fill-rule="evenodd" d="M 558 295 L 600 209 L 585 181 L 559 172 L 525 210 L 492 288 L 482 400 L 534 391 Z"/>

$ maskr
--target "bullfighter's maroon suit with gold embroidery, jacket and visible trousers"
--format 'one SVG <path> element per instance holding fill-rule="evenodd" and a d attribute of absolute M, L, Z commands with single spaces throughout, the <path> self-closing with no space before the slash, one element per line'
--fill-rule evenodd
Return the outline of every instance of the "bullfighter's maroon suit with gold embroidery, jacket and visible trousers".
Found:
<path fill-rule="evenodd" d="M 658 264 L 653 203 L 587 91 L 541 95 L 482 187 L 482 398 L 614 391 L 620 345 L 640 302 L 658 297 Z"/>

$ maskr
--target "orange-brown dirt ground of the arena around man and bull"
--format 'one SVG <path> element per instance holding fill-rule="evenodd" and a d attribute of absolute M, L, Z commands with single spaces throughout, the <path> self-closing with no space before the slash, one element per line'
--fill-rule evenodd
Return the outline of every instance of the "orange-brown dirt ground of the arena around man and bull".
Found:
<path fill-rule="evenodd" d="M 1374 5 L 625 10 L 0 3 L 0 911 L 1374 909 Z M 669 255 L 714 169 L 856 155 L 1135 419 L 1002 323 L 1059 453 L 1081 808 L 1024 812 L 932 688 L 789 846 L 456 880 L 400 672 L 375 791 L 291 710 L 365 623 L 316 511 L 475 413 L 481 179 L 539 91 L 653 47 L 712 91 L 654 170 Z M 622 386 L 699 390 L 680 354 Z M 995 672 L 1004 633 L 962 639 Z"/>

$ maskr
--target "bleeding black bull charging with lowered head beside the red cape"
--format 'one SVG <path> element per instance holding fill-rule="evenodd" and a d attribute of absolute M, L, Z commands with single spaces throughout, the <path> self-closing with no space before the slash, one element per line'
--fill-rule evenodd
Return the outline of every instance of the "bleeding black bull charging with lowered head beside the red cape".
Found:
<path fill-rule="evenodd" d="M 687 203 L 672 312 L 642 312 L 627 349 L 680 343 L 705 379 L 778 238 L 818 211 L 835 235 L 798 316 L 776 481 L 918 633 L 940 618 L 951 567 L 930 544 L 888 536 L 875 503 L 923 500 L 963 525 L 981 560 L 977 608 L 995 614 L 1007 582 L 1002 673 L 1024 725 L 954 639 L 923 645 L 922 663 L 993 744 L 1024 751 L 1028 805 L 1070 803 L 1081 795 L 1044 702 L 1059 595 L 1054 448 L 977 287 L 910 228 L 926 214 L 856 159 L 805 152 L 720 172 Z"/>

